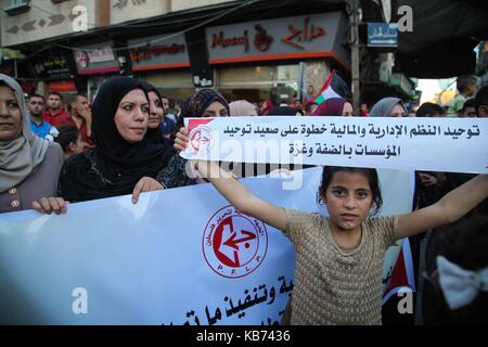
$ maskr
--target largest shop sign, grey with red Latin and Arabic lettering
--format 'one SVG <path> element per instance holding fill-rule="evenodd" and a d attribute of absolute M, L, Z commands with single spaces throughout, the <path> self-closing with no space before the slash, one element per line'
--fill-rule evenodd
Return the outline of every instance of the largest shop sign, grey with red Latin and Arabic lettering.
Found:
<path fill-rule="evenodd" d="M 344 21 L 341 12 L 332 12 L 209 27 L 206 36 L 210 63 L 332 52 L 346 34 Z"/>

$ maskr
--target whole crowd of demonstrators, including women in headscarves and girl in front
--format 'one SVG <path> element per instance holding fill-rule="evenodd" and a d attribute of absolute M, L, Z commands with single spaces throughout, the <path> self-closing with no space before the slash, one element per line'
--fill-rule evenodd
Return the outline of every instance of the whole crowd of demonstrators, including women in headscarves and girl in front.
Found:
<path fill-rule="evenodd" d="M 475 85 L 473 77 L 460 77 L 459 97 L 447 113 L 440 105 L 425 103 L 414 116 L 488 117 L 488 86 L 475 94 Z M 319 191 L 329 211 L 325 218 L 279 208 L 233 178 L 208 175 L 221 170 L 218 165 L 192 163 L 189 172 L 187 160 L 179 156 L 188 144 L 183 127 L 188 117 L 412 116 L 401 99 L 386 95 L 370 111 L 354 110 L 343 98 L 321 104 L 312 99 L 305 105 L 294 101 L 278 106 L 266 100 L 258 107 L 246 100 L 228 103 L 217 90 L 204 88 L 172 114 L 169 99 L 154 86 L 114 77 L 102 85 L 91 104 L 86 95 L 76 94 L 65 110 L 61 94 L 26 99 L 13 78 L 0 74 L 0 214 L 29 208 L 61 214 L 68 202 L 126 194 L 132 194 L 136 204 L 141 192 L 209 181 L 236 208 L 282 230 L 294 242 L 296 287 L 287 322 L 382 323 L 385 252 L 397 239 L 410 236 L 415 244 L 415 237 L 427 231 L 432 233 L 427 283 L 433 290 L 424 305 L 425 321 L 487 322 L 488 239 L 483 231 L 488 176 L 415 172 L 413 213 L 374 218 L 382 205 L 376 170 L 325 167 Z M 477 279 L 466 284 L 475 288 L 474 297 L 457 306 L 451 305 L 455 293 L 450 294 L 457 279 L 453 268 Z M 367 305 L 358 306 L 359 297 Z"/>

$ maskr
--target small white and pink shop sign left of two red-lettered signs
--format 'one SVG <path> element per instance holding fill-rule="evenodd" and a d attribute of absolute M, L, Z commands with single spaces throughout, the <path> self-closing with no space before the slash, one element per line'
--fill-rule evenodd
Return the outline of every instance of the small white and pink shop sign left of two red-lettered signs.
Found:
<path fill-rule="evenodd" d="M 112 42 L 85 46 L 73 54 L 79 75 L 105 74 L 120 69 Z"/>

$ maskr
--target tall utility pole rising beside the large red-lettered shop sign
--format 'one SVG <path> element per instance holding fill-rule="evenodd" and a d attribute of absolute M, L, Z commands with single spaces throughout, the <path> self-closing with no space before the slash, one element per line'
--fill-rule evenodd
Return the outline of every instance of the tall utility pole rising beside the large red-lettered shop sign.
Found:
<path fill-rule="evenodd" d="M 350 46 L 351 56 L 351 91 L 352 91 L 352 107 L 355 112 L 359 112 L 360 102 L 360 85 L 359 85 L 359 22 L 361 15 L 361 8 L 359 0 L 347 1 L 347 14 L 349 16 L 349 37 L 348 43 Z"/>

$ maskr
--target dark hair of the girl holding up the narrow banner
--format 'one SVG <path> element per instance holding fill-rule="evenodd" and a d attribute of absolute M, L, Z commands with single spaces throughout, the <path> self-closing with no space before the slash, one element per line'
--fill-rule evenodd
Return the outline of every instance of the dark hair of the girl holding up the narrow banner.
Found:
<path fill-rule="evenodd" d="M 325 192 L 331 184 L 334 175 L 339 171 L 346 172 L 359 172 L 363 174 L 370 183 L 371 193 L 373 194 L 374 207 L 370 213 L 371 216 L 376 216 L 383 205 L 382 191 L 380 188 L 380 180 L 377 178 L 376 169 L 360 168 L 360 167 L 342 167 L 342 166 L 324 166 L 322 171 L 322 180 L 320 182 L 318 191 L 318 202 L 322 203 L 322 196 L 325 196 Z"/>

